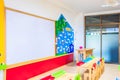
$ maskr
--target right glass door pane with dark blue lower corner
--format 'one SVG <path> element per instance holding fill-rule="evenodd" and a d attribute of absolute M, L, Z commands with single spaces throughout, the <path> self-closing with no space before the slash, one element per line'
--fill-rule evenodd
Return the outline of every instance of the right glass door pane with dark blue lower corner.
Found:
<path fill-rule="evenodd" d="M 102 28 L 102 57 L 105 58 L 105 62 L 118 63 L 118 34 L 118 25 Z"/>

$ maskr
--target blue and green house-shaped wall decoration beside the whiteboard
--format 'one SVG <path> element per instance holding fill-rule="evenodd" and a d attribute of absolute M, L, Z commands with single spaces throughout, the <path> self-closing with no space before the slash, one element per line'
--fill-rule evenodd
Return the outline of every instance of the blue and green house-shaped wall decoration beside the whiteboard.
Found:
<path fill-rule="evenodd" d="M 61 14 L 55 22 L 56 26 L 56 55 L 74 52 L 74 31 L 65 17 Z"/>

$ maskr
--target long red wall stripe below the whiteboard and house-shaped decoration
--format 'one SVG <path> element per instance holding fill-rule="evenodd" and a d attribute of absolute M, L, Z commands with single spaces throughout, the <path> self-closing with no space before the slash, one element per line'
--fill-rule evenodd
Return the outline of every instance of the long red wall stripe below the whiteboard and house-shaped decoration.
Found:
<path fill-rule="evenodd" d="M 10 68 L 6 70 L 6 80 L 27 80 L 70 62 L 73 62 L 73 54 Z"/>

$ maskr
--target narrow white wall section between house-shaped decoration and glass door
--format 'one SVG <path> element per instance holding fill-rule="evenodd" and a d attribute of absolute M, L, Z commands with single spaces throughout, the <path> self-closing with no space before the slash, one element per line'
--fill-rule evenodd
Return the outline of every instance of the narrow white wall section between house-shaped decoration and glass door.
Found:
<path fill-rule="evenodd" d="M 76 59 L 76 49 L 79 49 L 80 46 L 84 47 L 84 14 L 79 13 L 74 19 L 74 60 Z"/>

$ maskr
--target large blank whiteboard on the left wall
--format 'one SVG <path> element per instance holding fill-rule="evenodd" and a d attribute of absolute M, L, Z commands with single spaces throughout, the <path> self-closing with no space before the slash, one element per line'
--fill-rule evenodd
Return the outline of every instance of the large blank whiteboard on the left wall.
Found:
<path fill-rule="evenodd" d="M 54 21 L 6 10 L 7 64 L 54 56 L 54 44 Z"/>

